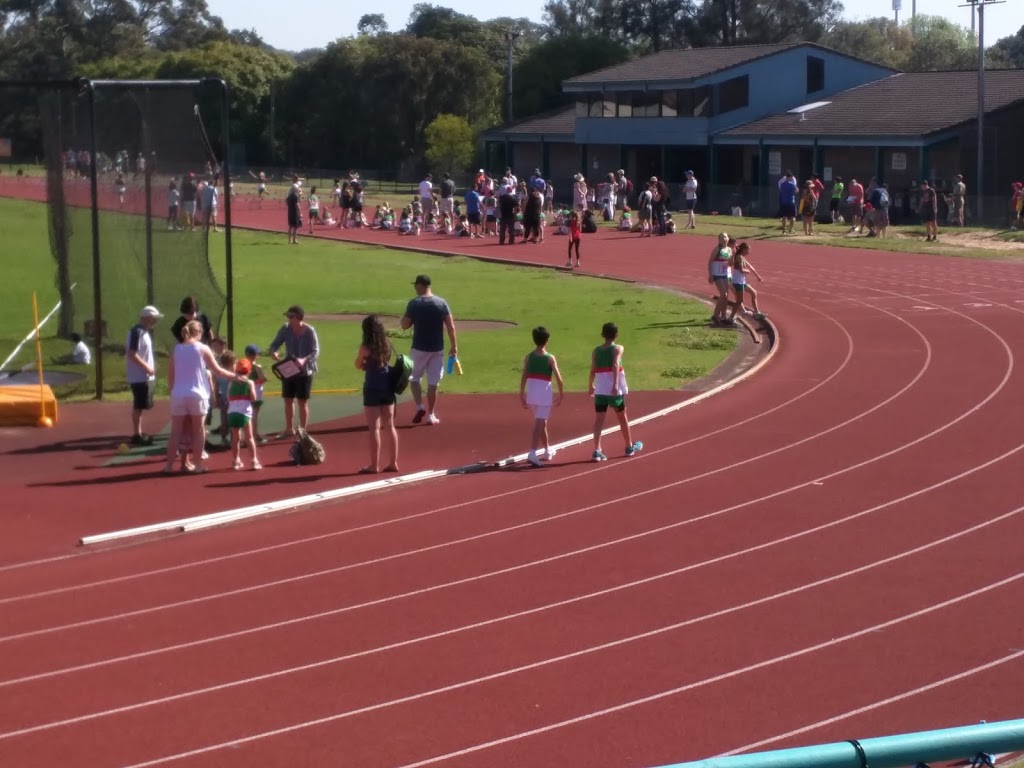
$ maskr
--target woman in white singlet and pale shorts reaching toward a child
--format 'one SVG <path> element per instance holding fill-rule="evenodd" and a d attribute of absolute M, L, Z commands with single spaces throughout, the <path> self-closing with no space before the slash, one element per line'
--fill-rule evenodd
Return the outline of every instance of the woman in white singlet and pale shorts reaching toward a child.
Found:
<path fill-rule="evenodd" d="M 210 347 L 202 342 L 203 325 L 189 321 L 181 329 L 181 343 L 174 347 L 167 364 L 167 388 L 171 392 L 171 436 L 167 440 L 167 464 L 164 474 L 174 471 L 178 445 L 186 434 L 191 435 L 193 453 L 202 456 L 206 443 L 206 412 L 210 408 L 210 374 L 222 379 L 240 379 L 233 372 L 217 365 Z M 202 459 L 194 472 L 206 472 Z"/>

